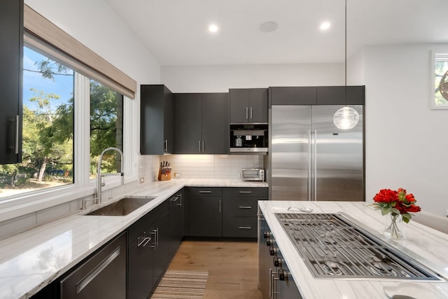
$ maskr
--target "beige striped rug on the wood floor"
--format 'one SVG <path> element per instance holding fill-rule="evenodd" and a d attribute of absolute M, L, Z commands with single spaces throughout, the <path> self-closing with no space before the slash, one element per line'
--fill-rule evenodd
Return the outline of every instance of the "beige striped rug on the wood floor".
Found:
<path fill-rule="evenodd" d="M 151 299 L 202 299 L 207 277 L 207 271 L 167 270 Z"/>

